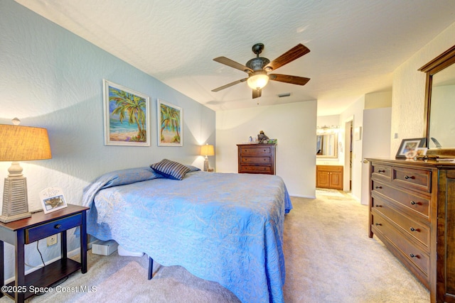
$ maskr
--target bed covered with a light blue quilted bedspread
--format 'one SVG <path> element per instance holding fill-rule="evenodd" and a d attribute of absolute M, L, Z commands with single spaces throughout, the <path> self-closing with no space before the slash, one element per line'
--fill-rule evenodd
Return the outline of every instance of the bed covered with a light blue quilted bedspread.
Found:
<path fill-rule="evenodd" d="M 98 177 L 82 198 L 87 233 L 181 265 L 242 302 L 284 302 L 283 224 L 292 204 L 282 178 L 189 167 L 182 180 L 150 167 Z"/>

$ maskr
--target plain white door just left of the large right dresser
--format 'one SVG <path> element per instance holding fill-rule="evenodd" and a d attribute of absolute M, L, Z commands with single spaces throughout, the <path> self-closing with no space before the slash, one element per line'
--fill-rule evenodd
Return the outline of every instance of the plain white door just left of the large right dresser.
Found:
<path fill-rule="evenodd" d="M 362 156 L 365 158 L 390 158 L 390 130 L 392 108 L 365 109 L 363 111 Z M 368 204 L 370 197 L 370 163 L 363 161 L 361 204 Z"/>

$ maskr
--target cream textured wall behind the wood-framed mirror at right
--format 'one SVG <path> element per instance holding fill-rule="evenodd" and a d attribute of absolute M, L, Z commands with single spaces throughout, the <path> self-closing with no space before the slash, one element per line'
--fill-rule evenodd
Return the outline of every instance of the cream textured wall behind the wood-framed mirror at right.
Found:
<path fill-rule="evenodd" d="M 392 142 L 395 158 L 402 139 L 420 138 L 424 133 L 425 74 L 419 68 L 454 45 L 455 23 L 437 35 L 393 72 Z M 395 133 L 398 138 L 394 138 Z"/>

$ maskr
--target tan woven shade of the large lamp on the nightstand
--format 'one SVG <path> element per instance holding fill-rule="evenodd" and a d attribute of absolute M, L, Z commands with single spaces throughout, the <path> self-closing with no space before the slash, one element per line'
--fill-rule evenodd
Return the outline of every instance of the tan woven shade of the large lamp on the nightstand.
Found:
<path fill-rule="evenodd" d="M 0 161 L 52 158 L 45 128 L 0 124 Z"/>

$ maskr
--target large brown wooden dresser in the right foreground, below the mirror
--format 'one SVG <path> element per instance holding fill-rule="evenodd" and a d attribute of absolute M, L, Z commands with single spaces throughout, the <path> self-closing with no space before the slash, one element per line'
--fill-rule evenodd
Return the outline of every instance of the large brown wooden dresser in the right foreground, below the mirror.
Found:
<path fill-rule="evenodd" d="M 431 302 L 455 302 L 455 163 L 368 160 L 370 238 L 429 289 Z"/>

